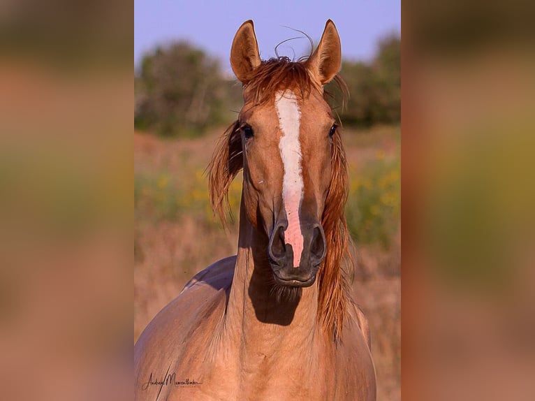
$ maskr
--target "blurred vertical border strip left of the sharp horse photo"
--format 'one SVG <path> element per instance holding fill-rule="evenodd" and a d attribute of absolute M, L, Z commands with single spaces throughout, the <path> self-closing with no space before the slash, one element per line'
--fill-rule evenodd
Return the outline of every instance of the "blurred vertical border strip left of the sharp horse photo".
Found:
<path fill-rule="evenodd" d="M 132 9 L 0 3 L 3 400 L 131 399 Z"/>

